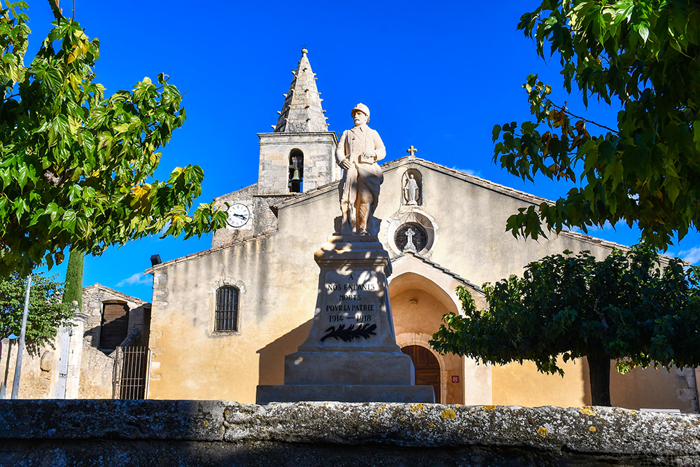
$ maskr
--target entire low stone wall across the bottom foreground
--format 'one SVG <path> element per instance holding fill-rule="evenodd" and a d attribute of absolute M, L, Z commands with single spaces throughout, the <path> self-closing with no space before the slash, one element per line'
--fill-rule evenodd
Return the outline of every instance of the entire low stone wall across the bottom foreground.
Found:
<path fill-rule="evenodd" d="M 1 400 L 0 465 L 691 466 L 699 425 L 606 407 Z"/>

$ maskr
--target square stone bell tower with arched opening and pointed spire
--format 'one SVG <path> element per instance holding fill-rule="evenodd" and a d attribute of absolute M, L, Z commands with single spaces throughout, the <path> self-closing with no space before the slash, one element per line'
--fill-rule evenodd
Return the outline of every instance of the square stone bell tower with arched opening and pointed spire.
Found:
<path fill-rule="evenodd" d="M 340 178 L 335 164 L 338 139 L 328 131 L 316 74 L 307 50 L 302 57 L 272 133 L 260 137 L 259 195 L 302 193 Z"/>

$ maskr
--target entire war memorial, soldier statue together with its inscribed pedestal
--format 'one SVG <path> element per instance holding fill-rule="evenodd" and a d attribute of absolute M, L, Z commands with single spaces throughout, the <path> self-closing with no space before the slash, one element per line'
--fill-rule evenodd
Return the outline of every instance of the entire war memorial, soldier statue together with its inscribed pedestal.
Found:
<path fill-rule="evenodd" d="M 284 384 L 258 385 L 258 404 L 299 400 L 435 402 L 433 386 L 416 386 L 411 357 L 396 344 L 388 296 L 388 252 L 372 214 L 384 177 L 386 149 L 367 127 L 370 109 L 357 104 L 355 127 L 343 132 L 336 161 L 342 217 L 314 253 L 321 269 L 309 336 L 284 358 Z M 340 221 L 340 225 L 337 225 Z"/>

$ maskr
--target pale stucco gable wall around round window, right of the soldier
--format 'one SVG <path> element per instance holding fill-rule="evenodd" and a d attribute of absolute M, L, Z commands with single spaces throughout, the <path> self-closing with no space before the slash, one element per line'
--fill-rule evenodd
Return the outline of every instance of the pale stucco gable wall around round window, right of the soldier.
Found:
<path fill-rule="evenodd" d="M 505 232 L 505 224 L 519 207 L 531 204 L 528 197 L 513 190 L 498 190 L 498 186 L 475 177 L 409 160 L 390 162 L 384 170 L 375 213 L 378 218 L 388 220 L 406 209 L 401 202 L 402 175 L 408 169 L 417 169 L 422 175 L 424 204 L 416 209 L 431 216 L 437 224 L 437 242 L 430 260 L 477 286 L 521 274 L 527 263 L 565 249 L 587 249 L 600 258 L 610 252 L 603 246 L 567 236 L 551 235 L 548 241 L 540 242 L 515 239 Z M 384 230 L 382 233 L 386 234 Z M 386 238 L 380 240 L 389 248 Z"/>

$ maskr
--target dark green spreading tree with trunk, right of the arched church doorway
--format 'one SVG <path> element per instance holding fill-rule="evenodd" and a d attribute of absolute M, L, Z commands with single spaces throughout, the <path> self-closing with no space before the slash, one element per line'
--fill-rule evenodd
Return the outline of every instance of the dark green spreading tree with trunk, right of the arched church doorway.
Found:
<path fill-rule="evenodd" d="M 698 267 L 677 258 L 661 270 L 644 246 L 602 261 L 570 251 L 527 265 L 522 278 L 484 284 L 488 309 L 458 288 L 463 316 L 446 314 L 430 344 L 441 353 L 505 365 L 533 361 L 558 372 L 587 357 L 594 405 L 610 405 L 610 361 L 617 370 L 700 365 Z"/>

